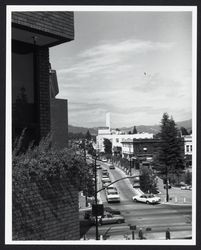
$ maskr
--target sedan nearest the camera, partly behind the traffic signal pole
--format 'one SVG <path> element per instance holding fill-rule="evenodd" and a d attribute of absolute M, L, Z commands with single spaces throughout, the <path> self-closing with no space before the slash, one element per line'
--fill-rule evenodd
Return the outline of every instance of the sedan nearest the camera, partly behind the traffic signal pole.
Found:
<path fill-rule="evenodd" d="M 92 224 L 95 224 L 96 220 L 94 216 L 90 216 L 89 218 Z M 104 224 L 115 224 L 115 223 L 124 223 L 125 218 L 122 215 L 114 215 L 111 213 L 105 213 L 104 216 L 98 216 L 98 223 L 99 225 Z"/>

